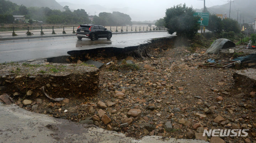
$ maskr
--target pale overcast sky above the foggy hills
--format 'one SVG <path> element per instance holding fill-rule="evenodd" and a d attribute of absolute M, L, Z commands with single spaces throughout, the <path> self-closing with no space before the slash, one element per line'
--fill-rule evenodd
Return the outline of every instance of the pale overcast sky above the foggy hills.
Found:
<path fill-rule="evenodd" d="M 77 4 L 75 9 L 84 9 L 79 5 L 101 5 L 107 9 L 124 9 L 120 12 L 130 15 L 132 21 L 157 20 L 165 16 L 165 10 L 177 4 L 186 3 L 194 9 L 203 8 L 203 0 L 56 0 L 57 2 L 70 2 Z M 227 0 L 206 0 L 206 7 L 226 4 Z M 129 10 L 127 10 L 127 7 Z M 87 11 L 85 9 L 85 11 Z M 94 11 L 90 10 L 90 13 Z M 97 14 L 103 11 L 97 11 Z M 111 11 L 107 11 L 111 12 Z M 88 12 L 87 12 L 88 13 Z"/>

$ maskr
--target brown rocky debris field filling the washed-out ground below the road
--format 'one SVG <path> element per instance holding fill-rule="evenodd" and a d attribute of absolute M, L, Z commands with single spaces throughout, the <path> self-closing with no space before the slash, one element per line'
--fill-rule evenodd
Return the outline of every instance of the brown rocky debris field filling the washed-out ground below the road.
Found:
<path fill-rule="evenodd" d="M 99 91 L 84 98 L 52 101 L 15 98 L 26 110 L 94 124 L 126 136 L 202 139 L 213 143 L 256 142 L 255 95 L 234 86 L 233 68 L 199 68 L 206 49 L 151 46 L 144 60 L 100 58 Z M 99 57 L 98 57 L 99 58 Z M 95 57 L 96 59 L 96 57 Z M 126 64 L 132 61 L 135 64 Z M 204 129 L 248 129 L 246 137 L 203 137 Z"/>

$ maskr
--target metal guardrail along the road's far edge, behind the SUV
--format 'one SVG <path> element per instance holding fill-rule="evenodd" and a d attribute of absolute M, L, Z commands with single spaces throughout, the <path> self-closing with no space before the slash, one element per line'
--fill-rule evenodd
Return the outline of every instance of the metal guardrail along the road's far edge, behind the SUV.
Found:
<path fill-rule="evenodd" d="M 149 26 L 105 26 L 112 32 L 162 31 L 165 27 Z M 15 26 L 0 27 L 0 37 L 44 34 L 75 34 L 76 26 Z"/>

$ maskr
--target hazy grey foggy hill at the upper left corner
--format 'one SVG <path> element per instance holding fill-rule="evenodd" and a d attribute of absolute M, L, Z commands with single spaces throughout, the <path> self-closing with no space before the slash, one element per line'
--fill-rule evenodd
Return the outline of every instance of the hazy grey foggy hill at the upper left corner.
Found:
<path fill-rule="evenodd" d="M 50 9 L 63 10 L 61 6 L 55 0 L 9 0 L 17 5 L 25 5 L 26 7 L 49 7 Z"/>

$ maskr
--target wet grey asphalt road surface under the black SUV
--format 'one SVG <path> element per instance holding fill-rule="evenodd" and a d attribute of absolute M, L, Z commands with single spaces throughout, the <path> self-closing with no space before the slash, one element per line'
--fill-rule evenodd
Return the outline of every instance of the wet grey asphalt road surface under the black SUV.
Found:
<path fill-rule="evenodd" d="M 0 63 L 42 59 L 47 57 L 68 55 L 71 50 L 95 49 L 101 47 L 125 48 L 143 44 L 145 40 L 170 37 L 167 32 L 131 33 L 113 35 L 111 40 L 106 38 L 91 41 L 76 36 L 38 38 L 22 40 L 6 40 L 0 42 Z"/>

